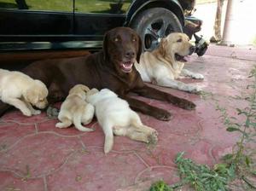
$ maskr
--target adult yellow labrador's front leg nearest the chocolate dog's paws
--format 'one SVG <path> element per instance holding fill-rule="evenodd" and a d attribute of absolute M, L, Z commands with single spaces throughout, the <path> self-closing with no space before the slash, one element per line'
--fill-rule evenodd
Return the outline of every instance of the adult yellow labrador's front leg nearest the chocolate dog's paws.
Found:
<path fill-rule="evenodd" d="M 183 90 L 189 93 L 198 93 L 201 91 L 200 87 L 197 87 L 192 84 L 185 84 L 183 82 L 179 82 L 171 78 L 158 78 L 156 82 L 160 86 L 164 86 L 164 87 L 168 87 L 176 90 Z"/>

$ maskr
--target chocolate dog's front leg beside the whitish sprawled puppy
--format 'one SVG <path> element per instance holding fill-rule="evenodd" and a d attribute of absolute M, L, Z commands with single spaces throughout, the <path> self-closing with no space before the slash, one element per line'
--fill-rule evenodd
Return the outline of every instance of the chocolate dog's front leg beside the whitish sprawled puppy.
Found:
<path fill-rule="evenodd" d="M 120 96 L 120 97 L 125 99 L 126 101 L 128 101 L 131 109 L 133 109 L 133 110 L 136 110 L 136 111 L 144 113 L 144 114 L 148 114 L 150 116 L 153 116 L 156 119 L 160 119 L 163 121 L 168 121 L 171 119 L 171 113 L 167 112 L 164 109 L 150 106 L 143 101 L 136 100 L 129 96 Z"/>

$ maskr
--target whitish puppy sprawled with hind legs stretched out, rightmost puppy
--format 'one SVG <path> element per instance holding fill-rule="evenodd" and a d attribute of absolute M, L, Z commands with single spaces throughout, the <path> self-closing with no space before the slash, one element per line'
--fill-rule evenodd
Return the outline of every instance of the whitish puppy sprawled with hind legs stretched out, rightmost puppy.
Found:
<path fill-rule="evenodd" d="M 105 153 L 113 148 L 113 134 L 128 136 L 139 142 L 157 142 L 157 131 L 143 125 L 128 102 L 119 98 L 113 91 L 92 89 L 88 92 L 86 100 L 96 107 L 96 118 L 105 134 Z"/>

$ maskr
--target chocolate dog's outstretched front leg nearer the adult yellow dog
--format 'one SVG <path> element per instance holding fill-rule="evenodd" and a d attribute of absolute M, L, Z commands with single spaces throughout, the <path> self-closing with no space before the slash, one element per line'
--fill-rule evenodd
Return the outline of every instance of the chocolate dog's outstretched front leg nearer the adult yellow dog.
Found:
<path fill-rule="evenodd" d="M 179 98 L 177 96 L 172 96 L 172 94 L 168 94 L 166 92 L 156 90 L 154 88 L 148 87 L 147 85 L 144 85 L 143 87 L 134 90 L 134 92 L 148 98 L 171 102 L 177 107 L 181 107 L 183 109 L 188 109 L 188 110 L 195 109 L 195 103 L 185 100 L 183 98 Z"/>

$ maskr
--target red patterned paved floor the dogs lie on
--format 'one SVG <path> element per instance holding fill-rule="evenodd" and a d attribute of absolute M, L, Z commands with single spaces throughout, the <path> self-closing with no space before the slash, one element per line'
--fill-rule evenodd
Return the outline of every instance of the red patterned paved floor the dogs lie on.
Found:
<path fill-rule="evenodd" d="M 0 119 L 0 190 L 148 190 L 160 178 L 168 183 L 178 181 L 173 162 L 178 152 L 184 151 L 185 157 L 201 164 L 218 162 L 231 152 L 238 135 L 225 130 L 216 107 L 226 107 L 233 116 L 236 107 L 245 107 L 242 98 L 252 80 L 247 76 L 256 64 L 256 49 L 212 45 L 207 55 L 193 55 L 189 62 L 187 67 L 201 72 L 205 79 L 185 81 L 201 86 L 208 92 L 205 96 L 159 89 L 194 101 L 195 111 L 141 98 L 173 114 L 168 122 L 140 114 L 144 124 L 158 130 L 159 142 L 154 148 L 116 136 L 113 151 L 105 155 L 96 120 L 89 125 L 96 130 L 87 133 L 56 129 L 57 120 L 48 119 L 45 113 L 32 118 L 18 111 L 6 113 Z"/>

